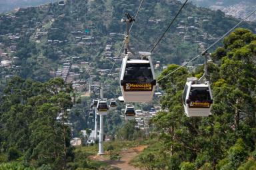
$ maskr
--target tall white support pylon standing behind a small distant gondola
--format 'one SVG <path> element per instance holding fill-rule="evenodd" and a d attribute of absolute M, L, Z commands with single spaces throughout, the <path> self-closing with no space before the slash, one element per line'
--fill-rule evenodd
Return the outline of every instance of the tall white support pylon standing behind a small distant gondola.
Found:
<path fill-rule="evenodd" d="M 103 85 L 101 84 L 101 100 L 103 100 Z M 103 149 L 103 135 L 104 135 L 104 129 L 103 129 L 103 114 L 99 115 L 99 153 L 98 155 L 103 155 L 104 154 L 104 149 Z"/>

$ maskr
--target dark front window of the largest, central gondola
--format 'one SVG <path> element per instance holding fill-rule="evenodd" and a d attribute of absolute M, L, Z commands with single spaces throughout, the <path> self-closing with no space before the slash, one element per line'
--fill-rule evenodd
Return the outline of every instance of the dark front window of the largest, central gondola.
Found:
<path fill-rule="evenodd" d="M 153 81 L 150 64 L 127 63 L 123 79 L 141 83 Z"/>

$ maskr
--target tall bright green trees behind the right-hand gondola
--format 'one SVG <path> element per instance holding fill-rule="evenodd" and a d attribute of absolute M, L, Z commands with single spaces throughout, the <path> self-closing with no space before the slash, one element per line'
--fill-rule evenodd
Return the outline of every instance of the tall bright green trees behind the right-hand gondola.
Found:
<path fill-rule="evenodd" d="M 152 119 L 159 143 L 133 163 L 147 169 L 255 169 L 256 35 L 236 29 L 209 63 L 214 105 L 207 118 L 186 117 L 181 95 L 191 73 L 183 68 L 160 81 L 166 95 Z M 176 69 L 169 65 L 161 77 Z M 201 75 L 203 67 L 192 75 Z"/>

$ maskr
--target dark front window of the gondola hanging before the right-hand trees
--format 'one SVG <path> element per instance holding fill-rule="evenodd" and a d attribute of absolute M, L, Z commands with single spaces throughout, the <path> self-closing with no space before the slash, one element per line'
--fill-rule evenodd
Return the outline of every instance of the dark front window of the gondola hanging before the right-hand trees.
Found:
<path fill-rule="evenodd" d="M 211 101 L 211 95 L 209 89 L 195 89 L 194 87 L 191 87 L 189 99 L 191 102 L 195 103 L 209 102 Z"/>

